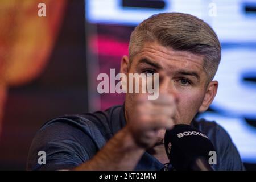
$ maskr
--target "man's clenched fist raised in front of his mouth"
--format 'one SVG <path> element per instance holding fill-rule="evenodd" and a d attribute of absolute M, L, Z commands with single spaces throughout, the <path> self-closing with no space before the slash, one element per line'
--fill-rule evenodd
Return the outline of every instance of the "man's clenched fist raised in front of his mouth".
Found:
<path fill-rule="evenodd" d="M 171 129 L 175 124 L 176 101 L 167 94 L 159 94 L 156 100 L 148 100 L 147 94 L 138 94 L 134 99 L 126 127 L 138 146 L 147 149 L 158 142 L 161 130 Z"/>

